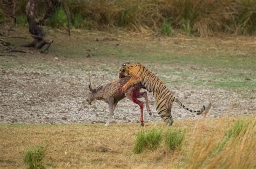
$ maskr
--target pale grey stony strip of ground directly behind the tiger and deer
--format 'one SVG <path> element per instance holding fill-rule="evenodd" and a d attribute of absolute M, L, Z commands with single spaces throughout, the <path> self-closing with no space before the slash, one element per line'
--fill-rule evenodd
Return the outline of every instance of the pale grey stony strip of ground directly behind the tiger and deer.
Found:
<path fill-rule="evenodd" d="M 90 69 L 90 68 L 89 68 Z M 101 72 L 95 72 L 101 74 Z M 108 104 L 97 101 L 86 103 L 88 75 L 80 69 L 0 69 L 0 123 L 105 123 Z M 117 78 L 116 74 L 105 75 L 105 83 Z M 100 79 L 94 79 L 98 83 Z M 181 102 L 192 109 L 212 102 L 206 117 L 253 115 L 256 110 L 255 91 L 235 92 L 224 89 L 209 89 L 204 86 L 190 87 L 183 84 L 169 89 Z M 244 95 L 250 94 L 250 97 Z M 161 118 L 156 112 L 152 94 L 149 95 L 152 116 L 144 107 L 144 121 L 156 122 Z M 180 108 L 174 103 L 174 120 L 204 118 Z M 112 123 L 139 122 L 139 107 L 127 98 L 120 101 L 114 110 Z"/>

